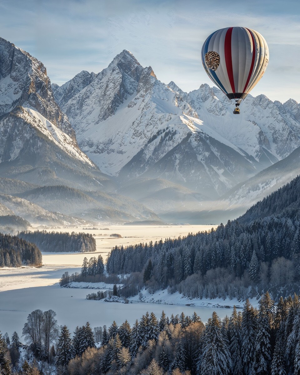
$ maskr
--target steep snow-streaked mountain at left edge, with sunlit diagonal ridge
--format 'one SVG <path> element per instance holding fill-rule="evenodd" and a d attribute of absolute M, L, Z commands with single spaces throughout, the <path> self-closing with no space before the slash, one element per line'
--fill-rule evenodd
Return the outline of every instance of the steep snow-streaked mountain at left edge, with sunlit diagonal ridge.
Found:
<path fill-rule="evenodd" d="M 26 172 L 30 182 L 51 184 L 57 179 L 68 180 L 71 172 L 74 175 L 71 185 L 77 180 L 80 185 L 84 178 L 77 178 L 78 174 L 102 175 L 78 147 L 68 117 L 55 102 L 46 68 L 2 38 L 0 134 L 0 175 L 3 177 L 19 174 L 22 180 L 20 173 Z M 44 172 L 34 178 L 36 168 Z M 87 179 L 86 187 L 98 184 L 93 182 L 94 177 Z M 26 177 L 24 180 L 27 181 Z"/>

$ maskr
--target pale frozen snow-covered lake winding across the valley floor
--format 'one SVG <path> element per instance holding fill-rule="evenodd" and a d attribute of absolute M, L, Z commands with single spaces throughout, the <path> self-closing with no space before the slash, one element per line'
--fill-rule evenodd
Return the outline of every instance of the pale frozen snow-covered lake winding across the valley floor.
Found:
<path fill-rule="evenodd" d="M 104 256 L 115 245 L 127 246 L 139 242 L 165 239 L 166 237 L 186 236 L 208 230 L 211 225 L 183 225 L 183 226 L 107 226 L 109 231 L 84 230 L 96 234 L 97 251 Z M 57 229 L 55 229 L 57 230 Z M 82 228 L 58 229 L 59 231 L 83 231 Z M 108 234 L 103 236 L 102 233 Z M 123 238 L 105 238 L 111 233 L 119 233 Z M 66 324 L 71 332 L 76 326 L 82 326 L 87 321 L 92 327 L 110 324 L 115 320 L 118 325 L 128 320 L 133 324 L 147 311 L 153 311 L 159 318 L 162 310 L 168 316 L 180 314 L 192 315 L 194 311 L 206 322 L 213 311 L 217 311 L 220 318 L 231 315 L 231 309 L 194 307 L 183 305 L 161 305 L 157 303 L 132 302 L 108 303 L 104 301 L 86 300 L 86 295 L 94 290 L 60 288 L 58 281 L 63 272 L 80 272 L 83 258 L 88 259 L 95 253 L 81 254 L 43 254 L 43 266 L 39 268 L 22 267 L 18 269 L 0 269 L 0 331 L 8 332 L 9 336 L 17 331 L 21 332 L 28 314 L 35 309 L 43 311 L 52 309 L 57 313 L 58 324 Z"/>

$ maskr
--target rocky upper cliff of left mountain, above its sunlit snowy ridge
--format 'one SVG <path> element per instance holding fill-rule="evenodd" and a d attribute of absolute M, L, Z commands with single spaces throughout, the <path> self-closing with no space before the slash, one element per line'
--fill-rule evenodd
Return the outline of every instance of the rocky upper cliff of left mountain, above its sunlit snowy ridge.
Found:
<path fill-rule="evenodd" d="M 45 66 L 0 37 L 0 115 L 31 107 L 75 140 L 68 117 L 56 104 Z"/>

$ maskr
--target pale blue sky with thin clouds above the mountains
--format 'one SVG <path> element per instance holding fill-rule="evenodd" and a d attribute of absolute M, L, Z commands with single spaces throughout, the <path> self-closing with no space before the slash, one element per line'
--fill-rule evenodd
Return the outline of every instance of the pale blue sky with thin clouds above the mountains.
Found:
<path fill-rule="evenodd" d="M 298 0 L 0 0 L 0 36 L 38 58 L 51 83 L 99 73 L 128 49 L 182 90 L 213 86 L 201 48 L 215 30 L 244 26 L 266 39 L 270 61 L 253 96 L 300 102 Z"/>

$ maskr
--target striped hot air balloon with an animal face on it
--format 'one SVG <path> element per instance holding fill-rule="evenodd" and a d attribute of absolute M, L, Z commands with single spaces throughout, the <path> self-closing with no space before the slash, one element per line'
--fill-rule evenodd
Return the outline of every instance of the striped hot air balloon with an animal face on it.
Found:
<path fill-rule="evenodd" d="M 269 62 L 266 40 L 246 27 L 226 27 L 212 33 L 204 42 L 202 64 L 211 80 L 229 99 L 240 103 L 263 76 Z"/>

